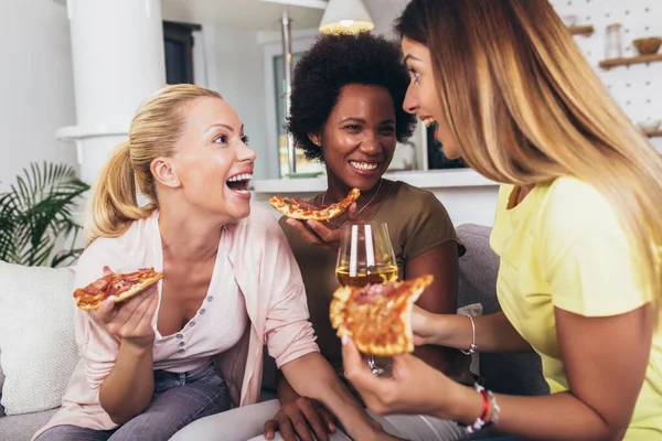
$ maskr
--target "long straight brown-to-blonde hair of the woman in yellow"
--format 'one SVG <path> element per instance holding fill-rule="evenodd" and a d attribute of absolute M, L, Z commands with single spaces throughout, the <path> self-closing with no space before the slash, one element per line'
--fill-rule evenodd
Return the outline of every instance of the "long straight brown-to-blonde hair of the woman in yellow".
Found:
<path fill-rule="evenodd" d="M 662 160 L 546 0 L 413 0 L 396 23 L 425 44 L 466 162 L 498 182 L 574 176 L 615 207 L 660 306 Z"/>

